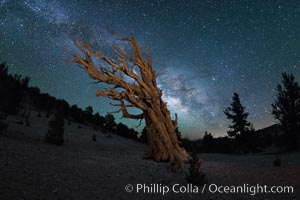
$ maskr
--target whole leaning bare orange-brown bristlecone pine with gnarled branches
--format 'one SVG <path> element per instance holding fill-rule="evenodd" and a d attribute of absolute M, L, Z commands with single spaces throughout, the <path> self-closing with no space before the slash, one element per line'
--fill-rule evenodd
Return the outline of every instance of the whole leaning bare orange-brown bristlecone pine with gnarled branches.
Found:
<path fill-rule="evenodd" d="M 107 83 L 114 87 L 96 91 L 96 96 L 106 96 L 119 103 L 112 104 L 120 107 L 112 112 L 122 112 L 124 118 L 145 119 L 148 149 L 146 159 L 169 161 L 173 169 L 180 170 L 189 160 L 188 153 L 179 146 L 176 135 L 177 115 L 171 119 L 167 103 L 162 100 L 162 90 L 156 83 L 157 74 L 152 69 L 150 54 L 146 58 L 133 36 L 121 38 L 131 45 L 133 55 L 119 45 L 115 45 L 116 59 L 111 59 L 94 51 L 84 42 L 74 41 L 75 46 L 83 53 L 70 53 L 74 62 L 80 65 L 99 83 Z M 100 59 L 105 65 L 96 66 L 94 60 Z M 129 81 L 132 80 L 132 81 Z M 141 110 L 140 114 L 131 114 L 128 107 Z"/>

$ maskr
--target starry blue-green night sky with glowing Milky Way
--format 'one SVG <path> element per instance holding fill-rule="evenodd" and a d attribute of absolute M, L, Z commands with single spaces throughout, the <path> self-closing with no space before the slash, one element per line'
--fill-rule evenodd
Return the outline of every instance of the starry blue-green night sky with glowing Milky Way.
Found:
<path fill-rule="evenodd" d="M 274 123 L 282 72 L 300 81 L 299 0 L 0 0 L 0 58 L 31 86 L 82 108 L 112 111 L 64 48 L 82 39 L 111 56 L 116 34 L 148 48 L 158 85 L 185 137 L 226 135 L 233 92 L 256 129 Z M 130 128 L 138 121 L 116 121 Z"/>

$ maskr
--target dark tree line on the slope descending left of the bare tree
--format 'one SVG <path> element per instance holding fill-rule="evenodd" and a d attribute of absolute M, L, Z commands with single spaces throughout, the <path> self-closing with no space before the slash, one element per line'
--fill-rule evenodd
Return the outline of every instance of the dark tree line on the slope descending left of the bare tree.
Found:
<path fill-rule="evenodd" d="M 23 106 L 27 104 L 38 111 L 39 117 L 42 117 L 42 115 L 49 117 L 53 114 L 55 116 L 54 120 L 49 122 L 51 132 L 52 129 L 58 130 L 61 127 L 61 122 L 59 122 L 61 116 L 57 112 L 59 110 L 59 113 L 63 113 L 63 117 L 69 121 L 69 124 L 74 121 L 80 124 L 92 125 L 96 130 L 110 131 L 120 136 L 139 140 L 138 132 L 122 123 L 117 124 L 113 115 L 101 116 L 98 112 L 94 113 L 91 106 L 88 106 L 85 110 L 77 105 L 70 106 L 63 99 L 56 99 L 47 93 L 42 93 L 38 87 L 30 87 L 29 82 L 30 78 L 27 76 L 23 78 L 20 75 L 9 74 L 7 64 L 5 62 L 0 63 L 0 112 L 5 115 L 22 115 L 24 112 Z M 57 121 L 55 121 L 56 118 Z M 58 124 L 58 127 L 53 126 L 53 124 Z"/>

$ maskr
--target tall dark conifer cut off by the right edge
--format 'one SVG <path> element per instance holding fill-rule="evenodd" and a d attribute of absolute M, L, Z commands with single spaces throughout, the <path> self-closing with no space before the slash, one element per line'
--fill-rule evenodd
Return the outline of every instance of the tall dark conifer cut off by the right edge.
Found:
<path fill-rule="evenodd" d="M 277 86 L 277 98 L 272 104 L 272 114 L 280 122 L 288 149 L 299 148 L 300 87 L 292 74 L 282 74 L 282 85 Z"/>

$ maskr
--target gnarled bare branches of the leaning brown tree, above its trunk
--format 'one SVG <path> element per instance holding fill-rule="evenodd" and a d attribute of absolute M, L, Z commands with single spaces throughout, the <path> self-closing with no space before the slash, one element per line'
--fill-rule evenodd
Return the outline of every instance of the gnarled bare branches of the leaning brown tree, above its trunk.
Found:
<path fill-rule="evenodd" d="M 83 66 L 85 71 L 90 75 L 91 78 L 97 80 L 96 83 L 105 82 L 107 84 L 115 85 L 115 88 L 122 88 L 124 91 L 119 93 L 113 89 L 110 90 L 98 90 L 96 92 L 97 96 L 108 96 L 114 100 L 125 99 L 134 105 L 134 107 L 141 110 L 146 110 L 147 105 L 144 103 L 143 96 L 148 96 L 151 93 L 149 85 L 145 83 L 143 77 L 140 77 L 133 70 L 128 69 L 128 60 L 134 65 L 138 66 L 141 73 L 143 70 L 151 68 L 148 64 L 151 62 L 148 60 L 147 63 L 142 61 L 141 52 L 137 43 L 133 37 L 131 38 L 122 38 L 122 40 L 127 40 L 132 43 L 133 50 L 135 52 L 135 57 L 131 57 L 128 52 L 126 52 L 121 46 L 116 45 L 114 52 L 117 55 L 117 60 L 121 63 L 118 64 L 114 60 L 102 55 L 101 53 L 94 51 L 92 47 L 82 41 L 74 40 L 75 46 L 83 53 L 84 57 L 81 57 L 77 53 L 69 53 L 73 56 L 72 60 L 69 62 L 74 62 Z M 108 64 L 106 66 L 99 66 L 93 62 L 93 57 L 97 57 L 100 60 Z M 149 58 L 150 59 L 150 58 Z M 120 72 L 120 74 L 116 74 Z M 124 75 L 135 80 L 135 83 L 129 83 L 124 80 Z M 151 75 L 148 74 L 148 76 Z M 146 79 L 148 79 L 148 76 Z"/>

